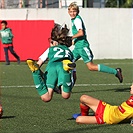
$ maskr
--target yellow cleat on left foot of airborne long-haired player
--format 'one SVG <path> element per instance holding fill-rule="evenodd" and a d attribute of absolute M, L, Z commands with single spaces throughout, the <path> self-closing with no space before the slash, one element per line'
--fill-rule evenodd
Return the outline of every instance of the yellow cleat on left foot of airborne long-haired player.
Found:
<path fill-rule="evenodd" d="M 27 59 L 27 64 L 32 72 L 37 71 L 39 69 L 39 65 L 35 63 L 32 59 Z"/>

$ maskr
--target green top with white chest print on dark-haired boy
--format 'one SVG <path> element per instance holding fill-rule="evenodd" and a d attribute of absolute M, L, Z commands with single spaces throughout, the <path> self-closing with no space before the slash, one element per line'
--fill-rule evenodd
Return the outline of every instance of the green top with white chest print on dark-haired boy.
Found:
<path fill-rule="evenodd" d="M 12 44 L 13 34 L 10 28 L 0 30 L 3 44 Z"/>

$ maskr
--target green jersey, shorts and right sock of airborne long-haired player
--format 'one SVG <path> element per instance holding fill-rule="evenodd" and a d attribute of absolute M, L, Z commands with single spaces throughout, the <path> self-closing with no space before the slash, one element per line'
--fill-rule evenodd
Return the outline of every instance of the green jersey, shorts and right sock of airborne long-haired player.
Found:
<path fill-rule="evenodd" d="M 72 61 L 72 52 L 65 45 L 52 46 L 49 48 L 48 59 L 44 74 L 47 79 L 47 88 L 54 89 L 56 86 L 62 85 L 64 92 L 70 92 L 72 89 L 71 73 L 63 69 L 62 61 L 65 59 Z"/>

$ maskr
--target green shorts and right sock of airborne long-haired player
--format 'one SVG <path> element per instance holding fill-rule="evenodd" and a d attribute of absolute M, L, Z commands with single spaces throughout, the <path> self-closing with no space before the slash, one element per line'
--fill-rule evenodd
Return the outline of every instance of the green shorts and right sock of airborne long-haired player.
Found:
<path fill-rule="evenodd" d="M 56 86 L 63 86 L 64 92 L 71 92 L 71 73 L 63 69 L 62 62 L 52 62 L 48 64 L 44 75 L 48 88 L 55 89 Z"/>

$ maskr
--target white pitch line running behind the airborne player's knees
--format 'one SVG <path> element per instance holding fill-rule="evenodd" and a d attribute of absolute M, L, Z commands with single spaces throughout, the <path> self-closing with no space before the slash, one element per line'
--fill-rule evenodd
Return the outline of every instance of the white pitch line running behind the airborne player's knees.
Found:
<path fill-rule="evenodd" d="M 75 87 L 80 87 L 80 86 L 125 86 L 125 85 L 131 85 L 132 83 L 119 83 L 119 84 L 75 84 Z M 35 85 L 18 85 L 18 86 L 0 86 L 0 88 L 34 88 Z"/>

